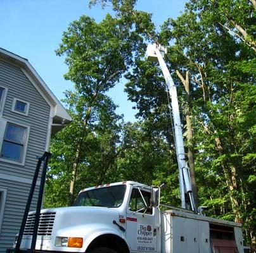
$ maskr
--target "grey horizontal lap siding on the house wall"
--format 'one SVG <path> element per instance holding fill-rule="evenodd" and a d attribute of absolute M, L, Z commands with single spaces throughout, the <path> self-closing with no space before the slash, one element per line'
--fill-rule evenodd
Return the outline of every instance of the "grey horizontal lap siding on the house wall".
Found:
<path fill-rule="evenodd" d="M 0 85 L 8 88 L 3 116 L 0 120 L 17 125 L 22 124 L 29 127 L 30 130 L 29 136 L 27 136 L 29 139 L 24 165 L 9 163 L 6 160 L 0 161 L 0 188 L 7 190 L 3 223 L 0 228 L 0 253 L 4 253 L 6 248 L 12 247 L 22 221 L 30 190 L 30 183 L 24 182 L 32 180 L 37 164 L 36 156 L 42 156 L 46 150 L 51 107 L 20 68 L 1 60 Z M 15 98 L 30 103 L 28 116 L 11 111 Z M 0 129 L 0 131 L 4 131 L 4 129 Z M 3 140 L 0 140 L 0 149 L 2 142 Z M 1 175 L 11 175 L 16 180 L 6 180 L 6 176 L 3 179 Z M 35 206 L 34 200 L 31 208 L 35 209 Z"/>

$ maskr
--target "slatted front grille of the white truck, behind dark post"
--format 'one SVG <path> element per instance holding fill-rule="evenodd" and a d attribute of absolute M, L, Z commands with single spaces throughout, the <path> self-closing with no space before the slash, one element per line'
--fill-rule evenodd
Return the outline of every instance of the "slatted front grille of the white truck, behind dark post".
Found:
<path fill-rule="evenodd" d="M 41 213 L 37 235 L 51 235 L 56 213 Z M 25 225 L 24 235 L 33 235 L 35 225 L 35 213 L 29 214 Z"/>

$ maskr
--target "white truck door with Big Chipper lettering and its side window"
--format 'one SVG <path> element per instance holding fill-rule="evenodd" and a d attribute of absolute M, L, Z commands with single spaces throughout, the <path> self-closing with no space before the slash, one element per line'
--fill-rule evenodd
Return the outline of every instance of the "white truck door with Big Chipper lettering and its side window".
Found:
<path fill-rule="evenodd" d="M 126 238 L 132 252 L 160 251 L 160 212 L 150 206 L 150 190 L 133 187 L 127 205 Z"/>

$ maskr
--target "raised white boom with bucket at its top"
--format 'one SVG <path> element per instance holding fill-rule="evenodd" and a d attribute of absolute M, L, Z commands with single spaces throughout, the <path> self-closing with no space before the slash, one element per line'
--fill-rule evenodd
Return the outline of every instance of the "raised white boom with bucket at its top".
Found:
<path fill-rule="evenodd" d="M 182 208 L 187 207 L 186 203 L 186 194 L 189 197 L 189 204 L 193 211 L 196 211 L 195 202 L 192 194 L 190 173 L 188 168 L 188 163 L 186 163 L 185 159 L 185 150 L 184 150 L 184 142 L 182 136 L 181 129 L 181 118 L 179 116 L 179 104 L 177 99 L 177 90 L 172 77 L 170 76 L 170 72 L 163 60 L 164 55 L 167 53 L 165 47 L 160 44 L 149 44 L 147 47 L 146 58 L 150 61 L 156 61 L 160 64 L 160 68 L 163 72 L 163 77 L 165 78 L 165 82 L 167 83 L 167 87 L 169 89 L 169 94 L 172 103 L 172 117 L 174 120 L 174 133 L 176 140 L 176 155 L 177 155 L 177 163 L 179 167 L 179 185 L 181 190 L 181 206 Z"/>

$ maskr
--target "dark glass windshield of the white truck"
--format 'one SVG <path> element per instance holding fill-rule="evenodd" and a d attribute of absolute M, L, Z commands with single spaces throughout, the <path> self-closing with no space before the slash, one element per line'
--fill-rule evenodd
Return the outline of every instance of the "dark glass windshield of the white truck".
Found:
<path fill-rule="evenodd" d="M 119 207 L 124 200 L 126 185 L 95 188 L 81 192 L 74 206 Z"/>

